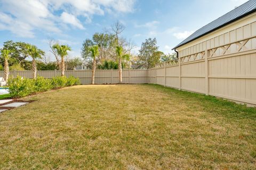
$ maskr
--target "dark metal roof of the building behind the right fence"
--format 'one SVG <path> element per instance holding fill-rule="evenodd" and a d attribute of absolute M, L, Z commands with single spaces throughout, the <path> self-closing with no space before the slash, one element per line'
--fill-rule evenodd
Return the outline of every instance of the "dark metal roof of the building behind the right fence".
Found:
<path fill-rule="evenodd" d="M 238 19 L 241 19 L 244 16 L 249 15 L 255 11 L 256 11 L 256 0 L 250 0 L 238 7 L 236 7 L 234 10 L 226 13 L 225 15 L 221 16 L 217 20 L 214 20 L 211 23 L 200 28 L 199 30 L 194 32 L 191 36 L 189 36 L 188 38 L 183 40 L 180 44 L 175 46 L 173 49 L 178 48 L 182 45 L 185 45 L 185 44 L 189 43 L 190 41 L 193 41 L 199 37 L 206 35 L 207 33 L 210 33 L 214 30 L 224 27 L 225 25 L 227 25 L 231 22 L 234 22 Z"/>

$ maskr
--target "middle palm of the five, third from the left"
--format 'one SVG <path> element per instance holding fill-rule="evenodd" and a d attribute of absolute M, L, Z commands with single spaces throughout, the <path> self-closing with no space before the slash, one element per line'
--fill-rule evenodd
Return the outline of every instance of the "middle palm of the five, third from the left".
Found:
<path fill-rule="evenodd" d="M 68 51 L 71 51 L 71 47 L 69 47 L 68 45 L 54 44 L 52 46 L 52 48 L 56 49 L 58 55 L 61 57 L 61 76 L 64 76 L 64 74 L 65 74 L 65 61 L 64 61 L 64 57 L 68 55 Z"/>

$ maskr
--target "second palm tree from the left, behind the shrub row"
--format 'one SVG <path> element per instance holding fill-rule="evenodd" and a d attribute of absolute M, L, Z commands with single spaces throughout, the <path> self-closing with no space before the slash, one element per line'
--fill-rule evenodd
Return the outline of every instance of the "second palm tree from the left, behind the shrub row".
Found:
<path fill-rule="evenodd" d="M 33 78 L 36 78 L 36 59 L 42 58 L 42 55 L 44 55 L 44 52 L 41 49 L 38 49 L 36 46 L 28 44 L 27 45 L 28 54 L 32 58 L 32 71 L 33 71 Z"/>

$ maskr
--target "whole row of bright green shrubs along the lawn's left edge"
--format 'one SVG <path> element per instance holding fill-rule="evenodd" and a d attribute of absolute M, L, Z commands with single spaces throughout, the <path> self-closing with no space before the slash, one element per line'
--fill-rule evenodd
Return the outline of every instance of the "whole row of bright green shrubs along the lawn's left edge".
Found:
<path fill-rule="evenodd" d="M 37 92 L 49 91 L 51 89 L 62 88 L 81 84 L 78 78 L 74 77 L 54 77 L 52 79 L 45 79 L 37 77 L 36 79 L 28 79 L 17 76 L 16 78 L 9 78 L 8 86 L 12 97 L 25 97 Z"/>

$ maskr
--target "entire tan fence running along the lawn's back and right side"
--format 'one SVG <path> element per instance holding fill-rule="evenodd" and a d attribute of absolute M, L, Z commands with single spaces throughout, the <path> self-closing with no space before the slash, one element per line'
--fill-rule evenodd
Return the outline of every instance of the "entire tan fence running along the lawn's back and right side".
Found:
<path fill-rule="evenodd" d="M 60 75 L 60 71 L 37 73 L 45 78 Z M 31 71 L 10 74 L 33 75 Z M 65 75 L 73 75 L 83 84 L 91 82 L 91 70 L 66 71 Z M 97 70 L 95 83 L 118 83 L 118 70 Z M 162 84 L 256 106 L 256 36 L 160 63 L 154 69 L 123 70 L 123 83 Z"/>

